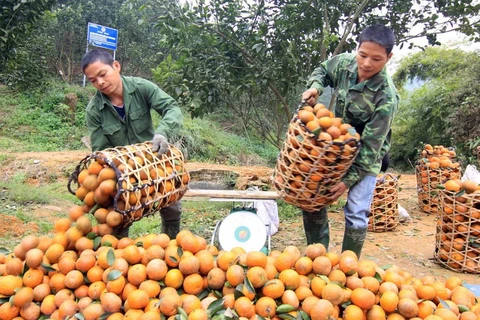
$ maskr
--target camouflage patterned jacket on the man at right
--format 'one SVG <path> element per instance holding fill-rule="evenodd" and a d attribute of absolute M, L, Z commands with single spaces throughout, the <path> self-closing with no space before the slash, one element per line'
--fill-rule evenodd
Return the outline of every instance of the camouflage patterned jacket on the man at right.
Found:
<path fill-rule="evenodd" d="M 335 116 L 361 134 L 360 152 L 342 180 L 348 188 L 363 177 L 380 172 L 382 158 L 390 149 L 387 135 L 399 100 L 385 68 L 361 83 L 356 83 L 357 69 L 355 54 L 343 53 L 323 62 L 308 81 L 309 87 L 317 89 L 320 95 L 325 87 L 332 87 Z"/>

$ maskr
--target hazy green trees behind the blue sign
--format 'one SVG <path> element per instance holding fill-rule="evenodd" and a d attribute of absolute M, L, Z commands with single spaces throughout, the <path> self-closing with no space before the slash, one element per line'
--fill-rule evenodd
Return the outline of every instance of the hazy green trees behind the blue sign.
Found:
<path fill-rule="evenodd" d="M 6 60 L 7 83 L 31 87 L 48 76 L 81 83 L 80 61 L 85 54 L 88 22 L 116 28 L 119 42 L 116 58 L 129 75 L 150 77 L 152 66 L 163 57 L 156 46 L 155 8 L 146 0 L 61 0 L 17 41 L 17 54 Z"/>

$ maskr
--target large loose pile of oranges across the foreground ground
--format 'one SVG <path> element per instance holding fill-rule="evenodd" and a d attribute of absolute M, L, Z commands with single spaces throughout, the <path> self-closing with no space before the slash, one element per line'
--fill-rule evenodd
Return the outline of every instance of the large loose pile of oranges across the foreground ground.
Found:
<path fill-rule="evenodd" d="M 0 320 L 478 319 L 461 279 L 415 278 L 321 244 L 230 251 L 188 230 L 175 239 L 95 234 L 70 211 L 54 236 L 0 253 Z M 388 318 L 387 318 L 388 317 Z"/>

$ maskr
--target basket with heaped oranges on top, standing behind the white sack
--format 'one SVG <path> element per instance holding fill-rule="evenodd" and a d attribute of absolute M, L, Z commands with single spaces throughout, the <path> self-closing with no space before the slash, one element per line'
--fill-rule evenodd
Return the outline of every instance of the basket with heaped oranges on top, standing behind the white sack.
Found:
<path fill-rule="evenodd" d="M 460 179 L 461 167 L 454 150 L 426 144 L 415 167 L 418 204 L 427 213 L 438 213 L 438 190 L 447 180 Z"/>

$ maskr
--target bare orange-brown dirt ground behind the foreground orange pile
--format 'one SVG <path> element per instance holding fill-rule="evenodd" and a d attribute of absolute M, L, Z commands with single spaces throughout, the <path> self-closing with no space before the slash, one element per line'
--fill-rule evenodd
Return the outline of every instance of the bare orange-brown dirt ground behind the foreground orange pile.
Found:
<path fill-rule="evenodd" d="M 13 176 L 16 172 L 25 171 L 32 184 L 47 179 L 56 173 L 58 179 L 66 179 L 66 172 L 71 172 L 75 165 L 88 155 L 87 151 L 41 152 L 41 153 L 0 153 L 5 161 L 0 163 L 0 180 Z M 187 162 L 188 170 L 214 169 L 231 170 L 239 174 L 242 181 L 257 181 L 262 184 L 268 182 L 272 169 L 268 167 L 231 167 L 218 164 L 204 164 Z M 467 274 L 450 271 L 438 265 L 433 260 L 435 249 L 435 222 L 436 216 L 421 211 L 417 205 L 417 191 L 415 175 L 402 174 L 399 179 L 399 204 L 410 215 L 410 219 L 397 226 L 394 231 L 367 235 L 362 252 L 362 259 L 375 261 L 380 266 L 397 265 L 404 268 L 416 277 L 431 275 L 443 281 L 450 276 L 458 276 L 470 284 L 479 284 L 479 274 Z M 1 190 L 0 190 L 1 191 Z M 1 195 L 1 194 L 0 194 Z M 0 197 L 1 203 L 1 197 Z M 65 210 L 69 203 L 58 203 L 50 206 L 39 206 L 35 217 L 44 218 L 51 212 Z M 15 217 L 0 215 L 0 237 L 2 235 L 20 236 L 26 228 L 36 228 L 35 224 L 23 224 Z M 343 235 L 343 212 L 330 213 L 331 240 L 330 251 L 340 252 Z M 289 245 L 300 249 L 305 248 L 305 236 L 302 221 L 291 223 L 280 221 L 279 231 L 271 238 L 272 249 L 281 250 Z"/>

